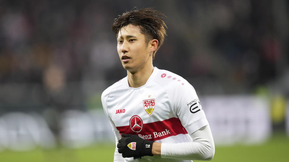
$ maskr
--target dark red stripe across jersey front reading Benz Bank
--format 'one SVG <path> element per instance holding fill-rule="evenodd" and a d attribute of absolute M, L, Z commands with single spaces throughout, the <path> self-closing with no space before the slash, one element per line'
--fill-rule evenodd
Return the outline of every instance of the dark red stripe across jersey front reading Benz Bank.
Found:
<path fill-rule="evenodd" d="M 130 125 L 117 127 L 120 134 L 136 134 L 139 137 L 156 141 L 178 134 L 188 134 L 179 118 L 170 118 L 163 121 L 144 123 L 140 132 L 132 131 Z"/>

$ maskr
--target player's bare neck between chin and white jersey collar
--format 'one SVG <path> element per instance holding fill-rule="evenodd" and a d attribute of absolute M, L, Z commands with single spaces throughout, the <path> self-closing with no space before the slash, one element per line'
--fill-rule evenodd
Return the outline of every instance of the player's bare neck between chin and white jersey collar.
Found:
<path fill-rule="evenodd" d="M 131 73 L 127 71 L 129 86 L 132 88 L 138 88 L 148 81 L 148 78 L 150 78 L 151 74 L 154 71 L 154 66 L 151 64 L 151 66 L 139 69 L 135 73 Z"/>

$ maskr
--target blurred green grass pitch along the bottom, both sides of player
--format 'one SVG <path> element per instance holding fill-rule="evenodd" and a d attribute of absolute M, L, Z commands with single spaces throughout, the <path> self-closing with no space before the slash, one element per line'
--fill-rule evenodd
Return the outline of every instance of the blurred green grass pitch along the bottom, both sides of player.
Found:
<path fill-rule="evenodd" d="M 28 152 L 0 152 L 1 162 L 112 162 L 114 144 L 98 144 L 82 149 L 35 149 Z M 212 162 L 285 162 L 288 161 L 289 138 L 272 137 L 260 145 L 216 146 Z M 197 161 L 194 161 L 197 162 Z"/>

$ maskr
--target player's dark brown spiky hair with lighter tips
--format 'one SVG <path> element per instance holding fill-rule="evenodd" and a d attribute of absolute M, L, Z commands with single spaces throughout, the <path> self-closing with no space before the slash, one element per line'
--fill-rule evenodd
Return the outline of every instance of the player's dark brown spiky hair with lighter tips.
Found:
<path fill-rule="evenodd" d="M 159 44 L 153 53 L 154 59 L 157 50 L 163 44 L 166 36 L 165 28 L 167 28 L 167 26 L 161 19 L 163 17 L 166 16 L 160 11 L 153 10 L 152 8 L 144 8 L 140 10 L 133 8 L 131 11 L 119 15 L 119 17 L 114 20 L 111 29 L 116 35 L 118 35 L 118 32 L 122 27 L 132 24 L 139 27 L 141 34 L 145 35 L 145 41 L 147 44 L 150 40 L 157 39 Z"/>

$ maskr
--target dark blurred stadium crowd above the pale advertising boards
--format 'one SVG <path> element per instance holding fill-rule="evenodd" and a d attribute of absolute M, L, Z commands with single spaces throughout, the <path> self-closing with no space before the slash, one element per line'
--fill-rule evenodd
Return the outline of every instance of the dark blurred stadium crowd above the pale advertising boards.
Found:
<path fill-rule="evenodd" d="M 126 75 L 111 24 L 135 6 L 167 16 L 154 66 L 183 76 L 200 95 L 289 96 L 288 4 L 281 2 L 3 0 L 1 113 L 101 107 L 101 92 Z"/>

